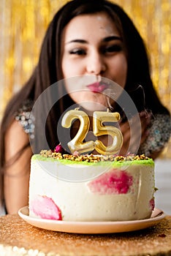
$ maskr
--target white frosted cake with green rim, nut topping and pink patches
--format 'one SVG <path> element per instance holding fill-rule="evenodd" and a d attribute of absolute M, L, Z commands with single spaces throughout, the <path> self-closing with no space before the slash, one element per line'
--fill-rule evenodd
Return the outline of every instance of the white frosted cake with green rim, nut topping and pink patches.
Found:
<path fill-rule="evenodd" d="M 69 155 L 31 158 L 29 215 L 64 221 L 126 221 L 151 217 L 154 162 L 141 156 Z"/>

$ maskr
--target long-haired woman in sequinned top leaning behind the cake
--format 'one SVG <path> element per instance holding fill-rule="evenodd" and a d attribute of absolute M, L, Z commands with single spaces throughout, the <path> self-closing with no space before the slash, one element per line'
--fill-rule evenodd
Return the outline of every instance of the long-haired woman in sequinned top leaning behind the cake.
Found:
<path fill-rule="evenodd" d="M 93 75 L 98 84 L 102 78 L 113 80 L 130 95 L 139 112 L 141 127 L 134 123 L 134 128 L 142 131 L 140 153 L 155 159 L 169 140 L 170 114 L 153 89 L 145 45 L 132 21 L 110 1 L 69 1 L 50 23 L 37 67 L 7 105 L 1 122 L 1 201 L 5 201 L 7 213 L 16 213 L 28 205 L 30 159 L 33 151 L 44 148 L 45 113 L 50 110 L 45 134 L 53 149 L 60 142 L 56 127 L 61 114 L 82 95 L 67 94 L 67 83 L 64 85 L 63 81 L 57 83 L 55 91 L 47 90 L 45 97 L 42 92 L 59 80 L 80 75 Z M 98 93 L 91 90 L 96 97 Z M 52 105 L 54 97 L 58 101 Z M 35 102 L 38 107 L 33 111 L 33 123 L 29 114 Z M 113 102 L 110 103 L 114 112 L 121 113 L 121 154 L 126 154 L 131 138 L 129 117 L 119 105 L 114 104 L 113 108 Z M 156 128 L 160 138 L 155 136 Z M 134 138 L 136 132 L 132 133 Z"/>

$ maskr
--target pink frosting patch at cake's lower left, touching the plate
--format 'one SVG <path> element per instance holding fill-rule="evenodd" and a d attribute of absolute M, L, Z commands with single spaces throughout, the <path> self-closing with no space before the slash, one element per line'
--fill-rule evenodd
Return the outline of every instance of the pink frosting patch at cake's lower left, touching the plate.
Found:
<path fill-rule="evenodd" d="M 50 197 L 38 195 L 31 203 L 31 210 L 42 219 L 62 219 L 61 210 Z"/>

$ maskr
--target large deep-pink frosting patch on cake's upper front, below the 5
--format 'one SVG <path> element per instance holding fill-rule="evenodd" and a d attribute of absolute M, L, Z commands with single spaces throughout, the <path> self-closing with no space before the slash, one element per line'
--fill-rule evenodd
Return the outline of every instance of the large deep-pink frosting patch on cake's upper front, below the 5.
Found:
<path fill-rule="evenodd" d="M 93 193 L 101 195 L 126 194 L 132 186 L 132 176 L 126 171 L 110 170 L 88 183 Z"/>

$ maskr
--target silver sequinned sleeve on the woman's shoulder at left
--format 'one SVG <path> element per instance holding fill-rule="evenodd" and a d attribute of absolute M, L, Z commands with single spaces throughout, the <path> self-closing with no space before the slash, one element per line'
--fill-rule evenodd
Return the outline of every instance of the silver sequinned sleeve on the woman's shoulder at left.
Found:
<path fill-rule="evenodd" d="M 33 108 L 34 102 L 31 99 L 26 99 L 20 108 L 15 113 L 15 120 L 23 128 L 24 132 L 28 133 L 29 135 L 33 135 L 34 133 L 34 120 L 33 116 L 31 116 L 31 110 Z"/>

